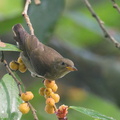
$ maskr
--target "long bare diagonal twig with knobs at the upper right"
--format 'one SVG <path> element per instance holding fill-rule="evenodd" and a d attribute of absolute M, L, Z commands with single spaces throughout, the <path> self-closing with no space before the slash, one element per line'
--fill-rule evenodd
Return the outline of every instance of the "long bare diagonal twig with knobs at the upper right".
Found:
<path fill-rule="evenodd" d="M 84 1 L 85 1 L 85 4 L 86 4 L 88 10 L 92 14 L 92 16 L 97 20 L 97 22 L 98 22 L 100 28 L 102 29 L 105 37 L 108 38 L 112 43 L 114 43 L 117 48 L 120 48 L 120 43 L 117 42 L 117 40 L 114 37 L 112 37 L 109 34 L 109 32 L 106 30 L 106 28 L 103 24 L 103 21 L 96 15 L 96 13 L 94 12 L 94 10 L 93 10 L 92 6 L 90 5 L 90 3 L 88 2 L 88 0 L 84 0 Z"/>

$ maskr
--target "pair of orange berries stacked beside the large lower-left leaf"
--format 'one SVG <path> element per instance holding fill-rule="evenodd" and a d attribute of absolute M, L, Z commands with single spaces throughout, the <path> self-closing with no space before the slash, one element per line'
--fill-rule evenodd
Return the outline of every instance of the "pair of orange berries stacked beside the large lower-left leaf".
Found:
<path fill-rule="evenodd" d="M 31 91 L 27 91 L 21 94 L 21 99 L 24 101 L 24 103 L 19 105 L 20 112 L 22 112 L 23 114 L 27 114 L 30 111 L 28 101 L 32 100 L 33 97 L 34 95 Z"/>

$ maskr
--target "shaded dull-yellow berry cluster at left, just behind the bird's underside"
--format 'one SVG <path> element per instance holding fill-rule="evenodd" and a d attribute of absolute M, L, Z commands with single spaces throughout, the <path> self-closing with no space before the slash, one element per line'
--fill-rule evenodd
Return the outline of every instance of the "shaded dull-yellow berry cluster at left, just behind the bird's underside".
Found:
<path fill-rule="evenodd" d="M 11 61 L 9 63 L 9 66 L 12 70 L 19 70 L 21 73 L 24 73 L 27 70 L 25 64 L 23 63 L 23 61 L 21 59 L 21 57 L 19 57 L 17 61 Z"/>

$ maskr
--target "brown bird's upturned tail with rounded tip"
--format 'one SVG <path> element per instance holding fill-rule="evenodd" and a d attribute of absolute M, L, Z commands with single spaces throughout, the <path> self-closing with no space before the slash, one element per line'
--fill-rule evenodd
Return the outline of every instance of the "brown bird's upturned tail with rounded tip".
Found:
<path fill-rule="evenodd" d="M 19 49 L 24 50 L 24 42 L 29 34 L 26 32 L 21 24 L 14 25 L 12 27 L 12 30 L 14 33 L 14 39 L 16 40 Z"/>

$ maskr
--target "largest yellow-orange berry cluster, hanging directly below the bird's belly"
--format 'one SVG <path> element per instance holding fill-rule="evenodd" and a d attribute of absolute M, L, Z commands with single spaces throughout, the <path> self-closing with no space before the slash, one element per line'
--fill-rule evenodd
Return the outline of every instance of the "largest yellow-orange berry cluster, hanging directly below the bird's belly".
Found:
<path fill-rule="evenodd" d="M 55 103 L 58 103 L 60 100 L 60 96 L 55 93 L 58 89 L 55 81 L 44 80 L 45 87 L 39 89 L 39 94 L 44 96 L 46 99 L 45 111 L 49 114 L 53 114 L 56 112 Z"/>

